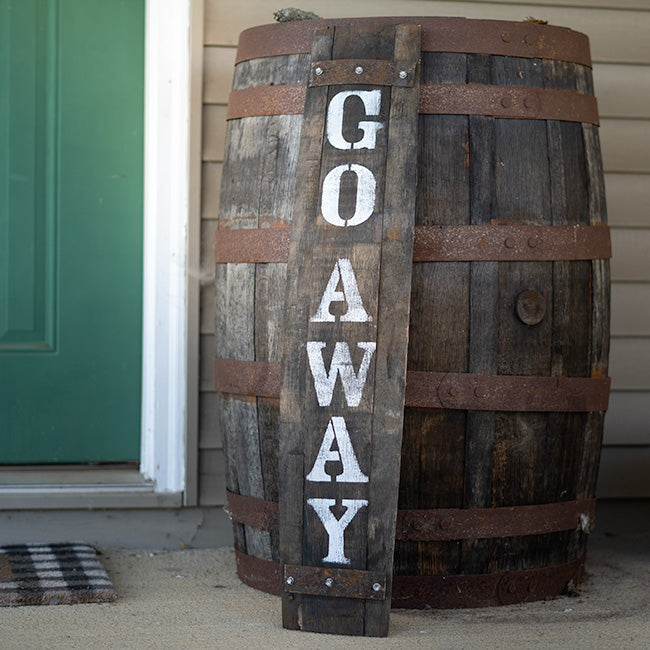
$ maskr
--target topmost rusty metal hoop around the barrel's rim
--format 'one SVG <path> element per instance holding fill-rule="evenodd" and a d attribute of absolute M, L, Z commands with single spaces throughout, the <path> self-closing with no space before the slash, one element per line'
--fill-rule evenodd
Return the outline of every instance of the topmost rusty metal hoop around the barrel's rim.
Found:
<path fill-rule="evenodd" d="M 241 33 L 236 63 L 267 56 L 308 54 L 316 27 L 359 22 L 420 25 L 423 52 L 555 59 L 591 66 L 589 39 L 566 27 L 431 16 L 341 18 L 260 25 Z"/>

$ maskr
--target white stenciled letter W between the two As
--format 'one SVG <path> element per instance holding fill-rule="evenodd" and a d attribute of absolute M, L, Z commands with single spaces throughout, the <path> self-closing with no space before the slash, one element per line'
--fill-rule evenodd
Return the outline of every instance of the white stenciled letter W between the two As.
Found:
<path fill-rule="evenodd" d="M 343 392 L 345 393 L 347 405 L 352 407 L 359 406 L 363 387 L 366 384 L 370 361 L 372 360 L 372 355 L 377 344 L 374 341 L 357 343 L 357 347 L 364 351 L 358 373 L 354 372 L 352 366 L 350 348 L 347 343 L 342 341 L 337 341 L 334 346 L 332 363 L 330 364 L 329 372 L 327 372 L 322 353 L 325 347 L 327 347 L 327 343 L 324 341 L 309 341 L 307 343 L 307 357 L 309 358 L 309 367 L 314 378 L 314 388 L 316 389 L 318 405 L 329 406 L 332 403 L 336 378 L 338 375 L 341 375 L 341 383 L 343 384 Z"/>

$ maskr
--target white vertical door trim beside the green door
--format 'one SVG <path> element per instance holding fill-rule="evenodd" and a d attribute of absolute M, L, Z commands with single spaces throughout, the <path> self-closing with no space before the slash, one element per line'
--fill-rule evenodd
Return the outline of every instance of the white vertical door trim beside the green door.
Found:
<path fill-rule="evenodd" d="M 140 470 L 156 492 L 186 484 L 191 15 L 191 0 L 146 2 Z"/>

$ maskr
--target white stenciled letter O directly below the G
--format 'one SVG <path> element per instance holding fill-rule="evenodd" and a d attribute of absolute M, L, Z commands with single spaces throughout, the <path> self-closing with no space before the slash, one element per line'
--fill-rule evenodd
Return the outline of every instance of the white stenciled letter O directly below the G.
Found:
<path fill-rule="evenodd" d="M 339 197 L 341 194 L 341 176 L 345 172 L 357 175 L 357 196 L 354 214 L 349 219 L 342 219 L 339 214 Z M 323 181 L 321 212 L 323 219 L 333 226 L 358 226 L 367 221 L 375 209 L 375 189 L 377 181 L 373 173 L 363 165 L 339 165 L 334 167 Z"/>

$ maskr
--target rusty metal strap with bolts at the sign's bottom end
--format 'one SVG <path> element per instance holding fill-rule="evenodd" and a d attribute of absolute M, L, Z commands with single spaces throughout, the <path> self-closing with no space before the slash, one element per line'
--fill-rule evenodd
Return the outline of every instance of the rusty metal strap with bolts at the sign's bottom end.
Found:
<path fill-rule="evenodd" d="M 386 574 L 287 564 L 283 589 L 290 594 L 386 600 Z"/>

